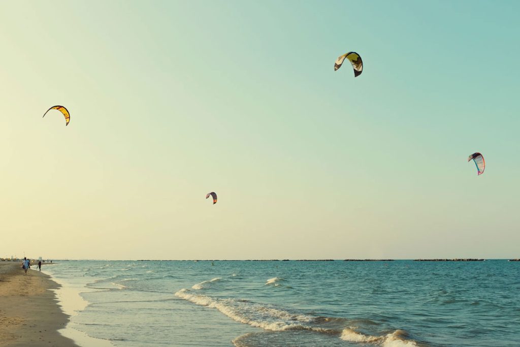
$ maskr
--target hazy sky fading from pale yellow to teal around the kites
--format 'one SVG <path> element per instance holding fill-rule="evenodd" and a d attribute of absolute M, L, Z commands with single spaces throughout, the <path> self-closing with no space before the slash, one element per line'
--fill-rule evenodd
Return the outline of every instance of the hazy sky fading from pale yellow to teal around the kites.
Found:
<path fill-rule="evenodd" d="M 518 2 L 2 8 L 0 256 L 520 256 Z"/>

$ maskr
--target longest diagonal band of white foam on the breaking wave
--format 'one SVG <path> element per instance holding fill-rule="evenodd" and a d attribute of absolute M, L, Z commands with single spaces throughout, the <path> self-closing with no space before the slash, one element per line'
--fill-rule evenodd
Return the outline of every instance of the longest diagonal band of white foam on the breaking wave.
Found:
<path fill-rule="evenodd" d="M 217 309 L 237 322 L 265 330 L 323 330 L 306 324 L 313 320 L 312 317 L 296 315 L 244 300 L 211 298 L 206 295 L 193 294 L 189 289 L 181 289 L 175 293 L 175 296 L 196 303 L 197 305 Z"/>

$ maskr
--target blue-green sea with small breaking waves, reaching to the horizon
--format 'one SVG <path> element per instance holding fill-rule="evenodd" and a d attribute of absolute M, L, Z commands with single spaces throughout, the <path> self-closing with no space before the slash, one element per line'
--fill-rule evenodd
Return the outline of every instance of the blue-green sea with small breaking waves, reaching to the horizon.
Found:
<path fill-rule="evenodd" d="M 73 314 L 65 330 L 93 338 L 78 339 L 85 347 L 520 345 L 520 262 L 62 261 L 44 271 Z"/>

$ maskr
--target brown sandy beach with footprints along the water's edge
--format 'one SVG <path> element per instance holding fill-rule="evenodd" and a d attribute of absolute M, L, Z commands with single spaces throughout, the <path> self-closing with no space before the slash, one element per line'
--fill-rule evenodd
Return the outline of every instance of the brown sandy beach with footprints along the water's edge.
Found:
<path fill-rule="evenodd" d="M 68 322 L 48 290 L 58 287 L 33 269 L 25 276 L 18 262 L 0 263 L 0 347 L 77 346 L 58 332 Z"/>

